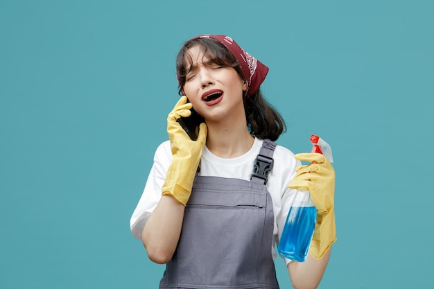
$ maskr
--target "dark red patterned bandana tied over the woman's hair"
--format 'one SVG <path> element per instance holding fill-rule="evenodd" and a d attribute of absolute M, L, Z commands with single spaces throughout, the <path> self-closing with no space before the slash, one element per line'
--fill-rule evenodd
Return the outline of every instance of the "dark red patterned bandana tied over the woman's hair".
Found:
<path fill-rule="evenodd" d="M 236 44 L 236 42 L 229 36 L 205 34 L 193 37 L 192 39 L 205 37 L 218 40 L 235 56 L 241 66 L 243 76 L 248 83 L 247 95 L 252 96 L 254 91 L 257 91 L 263 80 L 266 79 L 268 67 L 250 55 L 247 51 L 244 51 L 244 49 L 238 46 L 238 44 Z"/>

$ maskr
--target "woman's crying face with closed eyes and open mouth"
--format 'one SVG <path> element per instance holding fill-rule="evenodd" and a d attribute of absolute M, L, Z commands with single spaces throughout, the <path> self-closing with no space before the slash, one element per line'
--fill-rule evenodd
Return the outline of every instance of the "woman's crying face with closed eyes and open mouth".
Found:
<path fill-rule="evenodd" d="M 194 109 L 206 120 L 218 121 L 238 110 L 244 112 L 243 91 L 245 81 L 232 67 L 222 67 L 202 52 L 200 46 L 189 49 L 186 60 L 184 93 Z"/>

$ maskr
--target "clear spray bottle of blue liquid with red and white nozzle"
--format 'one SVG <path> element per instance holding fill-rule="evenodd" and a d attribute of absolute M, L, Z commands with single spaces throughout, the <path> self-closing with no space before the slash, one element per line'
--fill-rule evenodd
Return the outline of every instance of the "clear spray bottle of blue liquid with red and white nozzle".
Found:
<path fill-rule="evenodd" d="M 313 144 L 311 152 L 323 154 L 328 161 L 333 162 L 331 148 L 327 142 L 312 134 L 311 143 Z M 315 229 L 316 208 L 309 192 L 304 191 L 297 191 L 293 204 L 286 217 L 277 251 L 288 259 L 304 262 Z"/>

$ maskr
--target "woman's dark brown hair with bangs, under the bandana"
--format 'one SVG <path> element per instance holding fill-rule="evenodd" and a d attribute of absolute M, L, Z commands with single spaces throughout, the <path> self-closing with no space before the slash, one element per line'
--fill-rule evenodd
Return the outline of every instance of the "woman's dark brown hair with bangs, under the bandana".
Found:
<path fill-rule="evenodd" d="M 187 71 L 186 62 L 191 63 L 191 55 L 188 51 L 193 46 L 200 46 L 204 55 L 212 63 L 233 67 L 241 79 L 245 80 L 243 71 L 234 55 L 225 45 L 211 38 L 196 38 L 185 42 L 176 58 L 176 74 L 178 78 L 179 94 L 183 94 Z M 261 89 L 254 91 L 250 97 L 244 97 L 245 117 L 248 129 L 259 139 L 275 141 L 280 134 L 286 131 L 286 124 L 279 112 L 275 110 L 263 97 Z"/>

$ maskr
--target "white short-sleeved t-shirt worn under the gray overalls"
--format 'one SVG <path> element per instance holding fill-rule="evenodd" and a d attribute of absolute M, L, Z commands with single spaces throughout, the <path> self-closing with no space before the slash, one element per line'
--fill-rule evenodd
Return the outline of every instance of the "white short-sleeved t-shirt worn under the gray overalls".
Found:
<path fill-rule="evenodd" d="M 262 143 L 261 139 L 255 138 L 253 146 L 248 152 L 233 159 L 216 157 L 205 146 L 200 159 L 199 175 L 245 179 L 249 181 L 253 171 L 254 160 L 261 149 Z M 270 175 L 268 175 L 266 186 L 272 198 L 275 215 L 274 238 L 271 248 L 273 259 L 275 259 L 277 256 L 275 245 L 278 243 L 284 229 L 286 216 L 290 207 L 295 203 L 304 202 L 309 198 L 309 193 L 288 188 L 288 184 L 295 176 L 295 168 L 301 165 L 300 161 L 295 159 L 293 152 L 282 146 L 277 146 L 273 159 L 274 166 Z M 144 222 L 146 222 L 150 213 L 157 207 L 162 196 L 162 186 L 171 163 L 171 145 L 169 141 L 165 141 L 155 152 L 154 164 L 148 175 L 144 192 L 130 220 L 132 234 L 139 240 L 141 239 L 141 230 L 143 229 Z M 297 200 L 295 200 L 295 195 L 297 195 Z M 288 259 L 285 259 L 285 261 L 286 264 L 290 262 Z"/>

